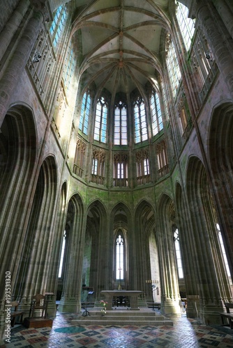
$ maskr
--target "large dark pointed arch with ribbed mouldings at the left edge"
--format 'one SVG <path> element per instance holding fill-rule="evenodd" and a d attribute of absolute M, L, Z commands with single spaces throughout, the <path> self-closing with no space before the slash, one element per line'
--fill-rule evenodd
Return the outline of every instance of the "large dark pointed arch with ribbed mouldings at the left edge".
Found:
<path fill-rule="evenodd" d="M 20 242 L 25 238 L 33 196 L 37 145 L 31 109 L 22 104 L 12 106 L 0 133 L 0 274 L 10 270 L 13 285 L 19 274 L 23 248 Z M 15 294 L 14 288 L 12 291 Z"/>

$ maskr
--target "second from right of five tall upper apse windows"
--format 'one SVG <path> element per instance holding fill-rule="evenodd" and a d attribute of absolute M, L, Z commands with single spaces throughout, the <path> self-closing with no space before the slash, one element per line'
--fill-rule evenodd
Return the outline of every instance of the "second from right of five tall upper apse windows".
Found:
<path fill-rule="evenodd" d="M 146 110 L 142 97 L 138 97 L 133 104 L 133 113 L 135 118 L 135 143 L 140 143 L 148 139 Z"/>

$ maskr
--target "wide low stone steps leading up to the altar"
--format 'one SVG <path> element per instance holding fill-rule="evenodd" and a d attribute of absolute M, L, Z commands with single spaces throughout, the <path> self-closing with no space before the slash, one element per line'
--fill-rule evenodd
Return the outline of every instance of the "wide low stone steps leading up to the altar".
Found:
<path fill-rule="evenodd" d="M 156 313 L 149 308 L 140 308 L 140 310 L 130 310 L 118 307 L 117 310 L 107 310 L 102 316 L 100 308 L 88 308 L 89 315 L 86 317 L 80 314 L 77 319 L 73 319 L 73 323 L 79 325 L 136 325 L 136 326 L 173 326 L 171 319 L 168 319 Z"/>

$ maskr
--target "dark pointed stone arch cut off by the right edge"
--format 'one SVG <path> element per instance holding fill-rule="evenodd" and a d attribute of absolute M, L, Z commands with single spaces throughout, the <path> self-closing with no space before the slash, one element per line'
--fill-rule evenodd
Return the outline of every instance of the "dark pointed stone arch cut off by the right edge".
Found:
<path fill-rule="evenodd" d="M 215 187 L 213 196 L 216 204 L 220 230 L 233 279 L 233 104 L 224 102 L 213 109 L 207 151 Z M 227 216 L 227 219 L 223 219 Z"/>

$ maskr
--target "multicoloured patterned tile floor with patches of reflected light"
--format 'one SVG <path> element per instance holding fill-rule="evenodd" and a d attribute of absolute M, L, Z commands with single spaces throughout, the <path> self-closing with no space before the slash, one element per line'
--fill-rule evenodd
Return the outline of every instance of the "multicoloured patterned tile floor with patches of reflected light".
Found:
<path fill-rule="evenodd" d="M 189 348 L 189 347 L 233 347 L 233 330 L 223 326 L 206 326 L 197 320 L 187 319 L 186 314 L 172 317 L 174 326 L 82 326 L 79 333 L 59 333 L 56 329 L 78 325 L 75 314 L 57 312 L 52 329 L 26 329 L 17 326 L 11 331 L 10 347 L 82 347 L 82 348 Z M 1 346 L 3 347 L 3 346 Z M 0 347 L 0 348 L 1 348 Z"/>

